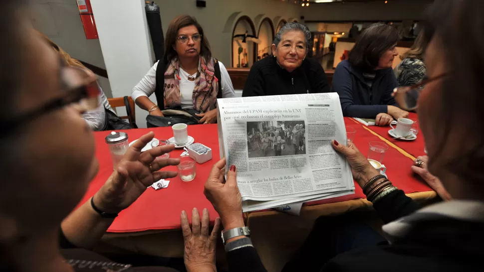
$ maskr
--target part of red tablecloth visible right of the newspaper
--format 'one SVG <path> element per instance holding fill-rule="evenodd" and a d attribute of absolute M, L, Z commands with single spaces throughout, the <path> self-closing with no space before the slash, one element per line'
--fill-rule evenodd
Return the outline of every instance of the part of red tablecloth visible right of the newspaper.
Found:
<path fill-rule="evenodd" d="M 356 130 L 356 135 L 354 143 L 356 147 L 366 156 L 368 154 L 369 142 L 380 140 L 377 136 L 373 135 L 368 130 L 364 129 L 364 125 L 358 123 L 350 118 L 345 118 L 346 127 L 351 127 Z M 370 127 L 372 129 L 373 127 Z M 390 137 L 391 138 L 391 137 Z M 419 145 L 419 142 L 414 143 L 414 145 Z M 423 150 L 423 143 L 419 147 L 413 147 L 415 149 L 421 148 Z M 402 189 L 405 193 L 414 192 L 426 192 L 432 190 L 426 183 L 416 178 L 412 173 L 410 167 L 413 161 L 400 153 L 397 149 L 390 147 L 385 154 L 383 159 L 383 164 L 387 167 L 386 174 L 392 183 L 399 189 Z M 351 195 L 346 195 L 342 197 L 325 199 L 320 201 L 307 202 L 306 205 L 316 205 L 322 203 L 332 203 L 345 201 L 356 198 L 365 198 L 363 191 L 355 183 L 355 193 Z"/>

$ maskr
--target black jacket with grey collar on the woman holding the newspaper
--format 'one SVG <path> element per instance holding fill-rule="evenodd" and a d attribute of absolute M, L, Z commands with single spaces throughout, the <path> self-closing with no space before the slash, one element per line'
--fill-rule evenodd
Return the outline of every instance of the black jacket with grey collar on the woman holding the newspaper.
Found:
<path fill-rule="evenodd" d="M 374 205 L 384 223 L 404 217 L 384 227 L 392 244 L 380 244 L 334 256 L 326 262 L 321 272 L 483 271 L 483 207 L 481 204 L 480 210 L 473 209 L 472 206 L 451 201 L 413 213 L 419 209 L 419 205 L 405 196 L 403 191 L 394 191 Z M 446 209 L 455 215 L 446 214 Z M 393 231 L 388 232 L 390 225 Z M 321 247 L 324 246 L 324 241 L 321 241 Z M 230 272 L 266 272 L 253 247 L 228 252 L 227 259 Z M 298 271 L 305 270 L 301 268 Z"/>

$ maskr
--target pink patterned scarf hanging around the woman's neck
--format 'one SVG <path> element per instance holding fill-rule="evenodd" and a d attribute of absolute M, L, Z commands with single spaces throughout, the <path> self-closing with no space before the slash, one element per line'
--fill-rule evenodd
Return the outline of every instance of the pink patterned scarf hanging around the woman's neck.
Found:
<path fill-rule="evenodd" d="M 193 108 L 200 113 L 215 109 L 219 80 L 215 77 L 215 59 L 205 63 L 200 56 L 200 68 L 195 79 L 192 101 Z M 179 108 L 180 101 L 180 61 L 174 58 L 165 71 L 165 109 Z"/>

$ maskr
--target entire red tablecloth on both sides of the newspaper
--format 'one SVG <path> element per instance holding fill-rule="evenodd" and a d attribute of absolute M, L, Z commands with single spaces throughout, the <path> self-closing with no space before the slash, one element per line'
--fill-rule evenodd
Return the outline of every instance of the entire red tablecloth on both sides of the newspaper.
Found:
<path fill-rule="evenodd" d="M 365 155 L 368 152 L 368 142 L 371 140 L 380 140 L 378 136 L 375 136 L 363 128 L 362 124 L 352 119 L 345 118 L 345 124 L 348 127 L 356 129 L 354 143 Z M 373 129 L 373 127 L 370 128 Z M 378 128 L 375 127 L 375 129 Z M 155 137 L 157 138 L 169 138 L 173 136 L 171 128 L 128 130 L 125 132 L 128 134 L 129 140 L 133 141 L 149 131 L 155 132 Z M 175 177 L 170 179 L 170 185 L 166 189 L 155 191 L 153 188 L 148 188 L 137 201 L 119 214 L 109 227 L 108 232 L 128 233 L 145 230 L 177 229 L 180 228 L 181 211 L 191 211 L 194 207 L 197 207 L 200 211 L 203 208 L 208 208 L 212 221 L 215 220 L 218 216 L 217 212 L 215 212 L 212 204 L 205 198 L 203 188 L 213 164 L 220 158 L 217 125 L 189 126 L 188 132 L 190 136 L 195 138 L 196 142 L 201 142 L 212 148 L 212 160 L 204 164 L 197 164 L 197 176 L 193 181 L 183 182 L 179 177 Z M 94 133 L 96 139 L 96 158 L 99 160 L 100 170 L 92 180 L 81 203 L 94 195 L 112 173 L 113 168 L 109 156 L 109 149 L 104 141 L 104 137 L 109 133 Z M 423 150 L 423 141 L 397 142 L 396 144 L 403 144 L 402 148 L 404 149 Z M 171 157 L 178 157 L 181 152 L 182 150 L 175 150 L 171 152 Z M 397 149 L 390 147 L 383 163 L 387 167 L 388 177 L 395 186 L 404 190 L 406 193 L 431 190 L 423 181 L 419 181 L 412 175 L 410 170 L 412 160 Z M 170 169 L 176 171 L 176 167 L 174 166 L 167 168 L 167 170 Z M 364 198 L 359 186 L 356 186 L 355 194 L 306 204 L 315 205 L 355 198 Z"/>

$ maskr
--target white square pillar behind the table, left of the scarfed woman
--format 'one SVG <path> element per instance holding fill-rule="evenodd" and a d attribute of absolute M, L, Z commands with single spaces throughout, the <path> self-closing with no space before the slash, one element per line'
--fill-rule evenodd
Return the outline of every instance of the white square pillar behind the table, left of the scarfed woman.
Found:
<path fill-rule="evenodd" d="M 130 95 L 153 65 L 144 0 L 91 0 L 91 5 L 113 96 Z M 148 113 L 136 108 L 136 123 L 146 127 Z"/>

